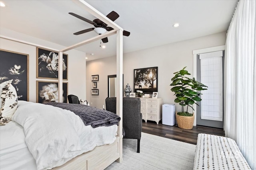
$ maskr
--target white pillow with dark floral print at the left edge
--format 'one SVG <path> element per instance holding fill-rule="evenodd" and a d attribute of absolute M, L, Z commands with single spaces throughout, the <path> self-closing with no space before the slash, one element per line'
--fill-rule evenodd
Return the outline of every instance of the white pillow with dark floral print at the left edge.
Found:
<path fill-rule="evenodd" d="M 17 109 L 18 96 L 11 83 L 12 80 L 8 80 L 0 84 L 0 125 L 8 123 Z"/>

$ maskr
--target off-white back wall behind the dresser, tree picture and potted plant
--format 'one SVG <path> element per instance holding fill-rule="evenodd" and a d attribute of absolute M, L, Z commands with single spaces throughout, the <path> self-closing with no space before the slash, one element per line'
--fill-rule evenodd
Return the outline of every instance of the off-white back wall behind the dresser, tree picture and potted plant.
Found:
<path fill-rule="evenodd" d="M 133 92 L 134 69 L 158 66 L 158 98 L 163 99 L 163 104 L 174 104 L 174 93 L 170 84 L 174 72 L 187 66 L 188 72 L 193 74 L 193 50 L 225 45 L 226 32 L 198 37 L 177 43 L 171 43 L 124 54 L 123 73 L 124 87 L 130 84 Z M 90 76 L 99 74 L 99 96 L 92 96 L 90 90 L 92 83 Z M 88 61 L 86 63 L 86 100 L 92 106 L 102 108 L 108 96 L 108 75 L 116 74 L 116 57 L 108 57 Z M 191 76 L 192 78 L 192 76 Z M 123 88 L 124 89 L 124 88 Z M 176 104 L 176 110 L 181 111 L 181 106 Z"/>

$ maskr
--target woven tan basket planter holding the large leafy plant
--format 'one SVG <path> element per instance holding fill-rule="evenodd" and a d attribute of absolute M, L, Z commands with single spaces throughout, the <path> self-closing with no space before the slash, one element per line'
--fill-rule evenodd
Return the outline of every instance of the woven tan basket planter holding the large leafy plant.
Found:
<path fill-rule="evenodd" d="M 178 123 L 178 127 L 181 129 L 193 129 L 195 115 L 193 116 L 180 116 L 176 112 L 176 120 Z"/>

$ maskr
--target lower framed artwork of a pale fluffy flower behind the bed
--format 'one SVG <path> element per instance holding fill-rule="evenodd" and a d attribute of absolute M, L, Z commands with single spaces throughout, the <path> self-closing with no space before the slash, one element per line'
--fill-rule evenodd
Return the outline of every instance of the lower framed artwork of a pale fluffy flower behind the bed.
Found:
<path fill-rule="evenodd" d="M 63 103 L 67 103 L 68 83 L 63 82 Z M 36 102 L 58 102 L 58 82 L 36 81 Z"/>

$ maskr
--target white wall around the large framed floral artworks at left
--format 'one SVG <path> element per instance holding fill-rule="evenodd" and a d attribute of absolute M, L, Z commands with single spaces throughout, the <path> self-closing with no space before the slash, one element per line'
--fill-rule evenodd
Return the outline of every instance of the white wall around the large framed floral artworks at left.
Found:
<path fill-rule="evenodd" d="M 64 46 L 44 41 L 42 39 L 36 39 L 24 34 L 20 34 L 14 31 L 10 31 L 4 28 L 1 28 L 1 35 L 8 37 L 20 39 L 23 41 L 28 41 L 36 43 L 38 45 L 43 45 L 46 47 L 54 49 L 63 49 Z M 0 49 L 5 49 L 9 51 L 24 53 L 29 55 L 29 101 L 36 102 L 36 80 L 40 81 L 53 81 L 50 79 L 38 79 L 36 78 L 36 47 L 25 45 L 22 43 L 0 39 Z M 81 99 L 86 98 L 86 54 L 77 51 L 70 50 L 65 52 L 68 54 L 68 94 L 77 95 Z M 54 80 L 56 81 L 56 80 Z"/>

